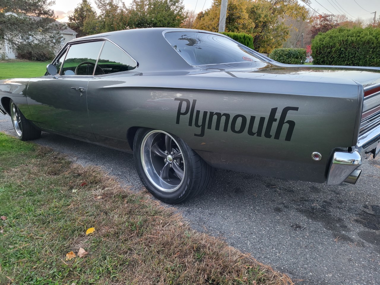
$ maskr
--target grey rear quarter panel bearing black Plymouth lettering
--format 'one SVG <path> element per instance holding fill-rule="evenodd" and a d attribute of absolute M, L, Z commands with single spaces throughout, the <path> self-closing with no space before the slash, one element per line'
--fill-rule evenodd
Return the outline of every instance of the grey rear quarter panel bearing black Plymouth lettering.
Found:
<path fill-rule="evenodd" d="M 131 127 L 164 130 L 182 138 L 208 163 L 218 168 L 315 182 L 326 180 L 332 151 L 352 146 L 359 86 L 353 81 L 289 80 L 286 74 L 269 80 L 217 76 L 123 76 L 90 81 L 88 109 L 97 139 L 126 140 Z M 182 99 L 182 100 L 180 100 Z M 190 106 L 187 111 L 187 99 Z M 193 101 L 196 100 L 196 101 Z M 182 108 L 179 104 L 183 102 Z M 195 105 L 193 104 L 195 103 Z M 194 105 L 192 107 L 192 105 Z M 272 127 L 268 127 L 271 111 Z M 291 122 L 294 130 L 288 136 Z M 191 115 L 192 111 L 193 116 Z M 295 111 L 297 109 L 297 111 Z M 230 115 L 216 130 L 210 112 Z M 197 114 L 198 113 L 198 117 Z M 179 115 L 180 114 L 180 115 Z M 182 115 L 181 115 L 182 114 Z M 274 114 L 274 116 L 273 116 Z M 236 115 L 234 127 L 232 119 Z M 241 133 L 243 117 L 247 119 Z M 255 117 L 249 134 L 249 123 Z M 260 118 L 263 131 L 258 135 Z M 198 122 L 195 122 L 198 119 Z M 204 131 L 202 131 L 204 125 Z M 265 130 L 269 128 L 266 135 Z M 280 129 L 280 136 L 276 136 Z M 233 132 L 233 130 L 235 132 Z M 312 160 L 320 152 L 320 161 Z"/>

